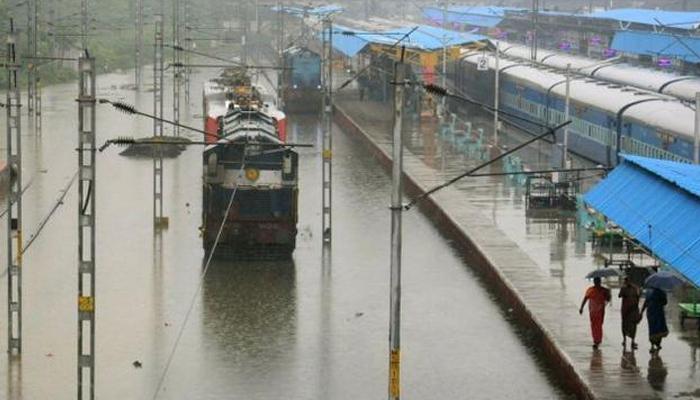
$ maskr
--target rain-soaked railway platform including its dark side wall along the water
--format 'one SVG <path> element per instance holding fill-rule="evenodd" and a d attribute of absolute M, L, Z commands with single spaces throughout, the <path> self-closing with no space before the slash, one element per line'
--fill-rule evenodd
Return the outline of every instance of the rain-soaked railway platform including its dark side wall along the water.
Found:
<path fill-rule="evenodd" d="M 352 94 L 339 96 L 335 106 L 338 125 L 390 169 L 390 107 L 361 102 Z M 410 116 L 404 143 L 405 190 L 410 198 L 482 162 L 442 143 L 435 124 L 412 123 Z M 484 146 L 488 152 L 488 144 Z M 538 146 L 522 155 L 523 163 L 533 169 L 548 162 L 547 145 Z M 493 167 L 491 172 L 499 170 Z M 556 379 L 577 398 L 696 398 L 700 336 L 691 326 L 694 321 L 682 327 L 671 299 L 671 333 L 660 354 L 648 352 L 646 321 L 638 327 L 639 350 L 623 350 L 618 282 L 608 281 L 613 302 L 606 312 L 603 344 L 592 349 L 588 316 L 579 315 L 578 304 L 590 285 L 585 275 L 603 260 L 575 219 L 528 217 L 522 194 L 522 188 L 504 177 L 467 178 L 431 196 L 421 209 L 480 273 L 518 329 L 527 330 L 532 351 L 554 367 Z"/>

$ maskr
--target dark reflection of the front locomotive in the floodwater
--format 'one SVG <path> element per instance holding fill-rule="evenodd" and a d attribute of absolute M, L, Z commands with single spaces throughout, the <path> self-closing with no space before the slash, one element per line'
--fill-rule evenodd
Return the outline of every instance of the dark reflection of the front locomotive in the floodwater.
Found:
<path fill-rule="evenodd" d="M 297 326 L 295 265 L 212 261 L 202 288 L 202 334 L 221 377 L 265 387 L 288 373 Z"/>

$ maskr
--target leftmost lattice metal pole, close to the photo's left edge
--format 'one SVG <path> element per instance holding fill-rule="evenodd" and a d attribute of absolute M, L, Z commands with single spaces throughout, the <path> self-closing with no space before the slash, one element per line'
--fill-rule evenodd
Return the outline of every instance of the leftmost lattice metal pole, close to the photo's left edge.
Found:
<path fill-rule="evenodd" d="M 14 21 L 7 36 L 7 163 L 15 179 L 8 179 L 7 196 L 7 351 L 22 353 L 22 123 L 19 62 Z"/>

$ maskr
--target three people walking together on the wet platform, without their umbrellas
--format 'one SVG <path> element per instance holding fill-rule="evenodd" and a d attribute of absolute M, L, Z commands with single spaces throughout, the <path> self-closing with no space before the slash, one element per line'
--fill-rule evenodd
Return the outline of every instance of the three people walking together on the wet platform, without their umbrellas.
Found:
<path fill-rule="evenodd" d="M 661 340 L 668 335 L 664 312 L 664 307 L 667 303 L 666 293 L 661 289 L 649 288 L 646 291 L 644 303 L 640 310 L 639 300 L 641 296 L 640 288 L 632 283 L 629 278 L 625 277 L 624 284 L 618 294 L 618 297 L 622 299 L 620 308 L 622 316 L 622 346 L 627 348 L 627 338 L 630 338 L 632 350 L 637 349 L 637 343 L 635 342 L 637 325 L 646 311 L 647 325 L 649 326 L 649 342 L 651 343 L 649 352 L 657 353 L 661 350 Z M 611 297 L 610 289 L 601 285 L 600 278 L 594 278 L 593 286 L 586 290 L 586 294 L 581 301 L 579 314 L 583 314 L 583 308 L 588 303 L 594 349 L 597 349 L 603 341 L 605 307 L 610 303 Z"/>

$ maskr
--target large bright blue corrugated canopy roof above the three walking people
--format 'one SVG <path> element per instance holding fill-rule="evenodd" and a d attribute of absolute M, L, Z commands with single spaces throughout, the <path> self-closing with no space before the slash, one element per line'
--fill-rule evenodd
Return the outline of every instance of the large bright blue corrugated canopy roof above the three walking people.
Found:
<path fill-rule="evenodd" d="M 584 199 L 700 286 L 700 166 L 627 155 Z"/>

